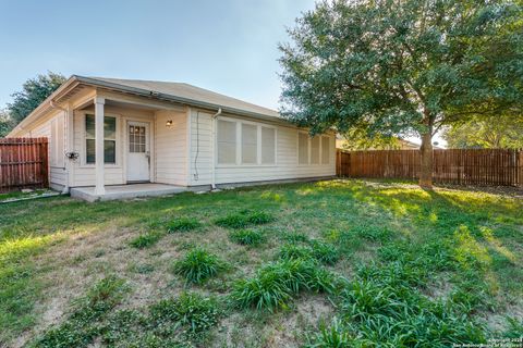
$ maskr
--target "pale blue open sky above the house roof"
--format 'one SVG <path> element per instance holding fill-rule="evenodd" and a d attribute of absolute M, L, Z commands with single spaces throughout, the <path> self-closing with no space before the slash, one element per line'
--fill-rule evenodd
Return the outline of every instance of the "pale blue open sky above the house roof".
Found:
<path fill-rule="evenodd" d="M 278 108 L 278 42 L 314 0 L 0 0 L 0 108 L 47 71 L 184 82 Z"/>

